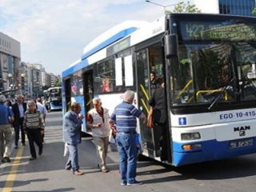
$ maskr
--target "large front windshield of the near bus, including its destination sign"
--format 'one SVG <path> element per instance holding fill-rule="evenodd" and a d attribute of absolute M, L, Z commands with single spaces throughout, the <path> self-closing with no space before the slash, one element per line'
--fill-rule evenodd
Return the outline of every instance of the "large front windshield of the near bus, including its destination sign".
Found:
<path fill-rule="evenodd" d="M 174 104 L 256 100 L 255 29 L 233 20 L 182 23 L 170 79 Z"/>

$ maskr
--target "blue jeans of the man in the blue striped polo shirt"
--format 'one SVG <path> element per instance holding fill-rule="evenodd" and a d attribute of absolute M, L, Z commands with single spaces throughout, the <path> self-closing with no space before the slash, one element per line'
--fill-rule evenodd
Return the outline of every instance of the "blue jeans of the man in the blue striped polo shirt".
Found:
<path fill-rule="evenodd" d="M 119 166 L 122 182 L 132 183 L 136 177 L 136 134 L 117 134 Z"/>

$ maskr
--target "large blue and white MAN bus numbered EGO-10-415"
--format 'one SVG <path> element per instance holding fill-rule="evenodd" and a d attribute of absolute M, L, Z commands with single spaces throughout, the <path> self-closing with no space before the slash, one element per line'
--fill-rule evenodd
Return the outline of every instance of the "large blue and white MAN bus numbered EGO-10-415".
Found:
<path fill-rule="evenodd" d="M 102 98 L 110 110 L 134 90 L 148 114 L 150 71 L 165 78 L 167 152 L 173 166 L 256 152 L 256 18 L 166 14 L 124 22 L 85 47 L 62 72 L 63 108 Z M 86 122 L 83 125 L 86 129 Z M 142 154 L 160 161 L 159 130 L 138 120 Z"/>

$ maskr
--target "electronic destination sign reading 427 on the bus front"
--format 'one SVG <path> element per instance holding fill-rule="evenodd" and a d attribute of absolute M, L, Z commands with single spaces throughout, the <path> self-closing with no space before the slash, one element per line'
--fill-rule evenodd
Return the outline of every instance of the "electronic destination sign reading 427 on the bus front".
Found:
<path fill-rule="evenodd" d="M 181 22 L 182 40 L 255 41 L 256 26 L 243 22 Z"/>

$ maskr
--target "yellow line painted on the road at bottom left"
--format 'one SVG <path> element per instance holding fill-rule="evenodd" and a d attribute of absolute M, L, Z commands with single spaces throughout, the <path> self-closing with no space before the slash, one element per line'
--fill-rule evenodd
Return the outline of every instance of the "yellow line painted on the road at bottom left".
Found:
<path fill-rule="evenodd" d="M 16 178 L 19 163 L 22 160 L 23 150 L 24 150 L 24 146 L 22 146 L 18 149 L 16 157 L 14 158 L 14 162 L 12 163 L 10 172 L 9 172 L 7 178 L 6 178 L 6 184 L 3 187 L 2 192 L 11 192 L 11 190 L 14 186 L 14 180 Z"/>

